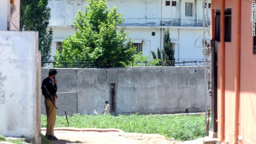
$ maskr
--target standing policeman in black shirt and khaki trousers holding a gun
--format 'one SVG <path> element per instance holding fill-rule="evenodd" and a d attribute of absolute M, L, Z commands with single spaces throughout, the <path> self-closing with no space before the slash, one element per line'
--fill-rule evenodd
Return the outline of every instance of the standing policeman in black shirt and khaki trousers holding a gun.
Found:
<path fill-rule="evenodd" d="M 56 120 L 56 96 L 57 91 L 57 80 L 55 78 L 57 72 L 55 69 L 50 69 L 49 76 L 45 78 L 42 82 L 42 93 L 44 95 L 44 104 L 47 114 L 47 127 L 46 127 L 46 138 L 48 140 L 58 140 L 54 136 L 54 124 Z M 43 90 L 43 87 L 47 90 Z"/>

